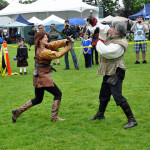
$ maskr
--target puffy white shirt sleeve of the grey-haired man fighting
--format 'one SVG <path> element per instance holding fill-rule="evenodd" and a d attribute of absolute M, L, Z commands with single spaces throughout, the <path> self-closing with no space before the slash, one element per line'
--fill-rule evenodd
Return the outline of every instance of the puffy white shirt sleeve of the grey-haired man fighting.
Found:
<path fill-rule="evenodd" d="M 124 48 L 119 44 L 105 45 L 101 41 L 97 42 L 96 50 L 107 59 L 115 59 L 123 55 Z"/>

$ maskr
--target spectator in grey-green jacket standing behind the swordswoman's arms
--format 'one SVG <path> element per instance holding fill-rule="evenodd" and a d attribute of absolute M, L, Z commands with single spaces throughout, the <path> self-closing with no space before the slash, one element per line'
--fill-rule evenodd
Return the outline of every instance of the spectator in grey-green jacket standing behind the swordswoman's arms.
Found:
<path fill-rule="evenodd" d="M 51 27 L 55 28 L 55 24 L 52 23 Z M 52 28 L 48 31 L 48 35 L 49 35 L 51 41 L 57 41 L 58 37 L 59 37 L 59 33 L 56 32 L 55 30 L 53 30 Z M 56 51 L 58 52 L 58 50 L 56 50 Z M 56 65 L 55 59 L 53 59 L 53 65 Z M 59 58 L 57 58 L 57 65 L 60 65 Z"/>

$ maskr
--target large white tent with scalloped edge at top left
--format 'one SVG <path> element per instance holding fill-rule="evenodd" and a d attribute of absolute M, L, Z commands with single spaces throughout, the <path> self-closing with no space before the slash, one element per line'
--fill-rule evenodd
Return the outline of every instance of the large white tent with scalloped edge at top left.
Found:
<path fill-rule="evenodd" d="M 99 8 L 88 5 L 82 0 L 37 0 L 31 4 L 20 4 L 19 0 L 14 0 L 0 11 L 0 16 L 12 18 L 14 15 L 21 14 L 27 20 L 33 16 L 43 20 L 52 14 L 63 19 L 86 18 L 90 10 L 95 17 L 98 17 Z"/>

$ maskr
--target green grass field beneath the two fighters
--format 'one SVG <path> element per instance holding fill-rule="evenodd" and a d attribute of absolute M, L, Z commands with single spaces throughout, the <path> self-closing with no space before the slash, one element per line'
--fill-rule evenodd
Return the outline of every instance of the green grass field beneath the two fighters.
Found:
<path fill-rule="evenodd" d="M 80 41 L 75 42 L 75 46 L 80 44 Z M 8 45 L 12 73 L 19 72 L 13 61 L 16 50 Z M 80 49 L 76 49 L 76 55 L 79 59 Z M 53 96 L 45 92 L 43 102 L 23 113 L 13 124 L 11 110 L 34 98 L 33 57 L 32 49 L 29 51 L 28 75 L 2 77 L 0 74 L 0 150 L 150 150 L 150 44 L 147 64 L 134 64 L 133 45 L 129 45 L 124 55 L 127 72 L 123 95 L 138 122 L 137 127 L 127 130 L 123 129 L 127 119 L 113 98 L 105 119 L 88 121 L 98 109 L 102 77 L 97 76 L 97 65 L 85 69 L 82 54 L 80 70 L 76 71 L 70 53 L 71 69 L 64 70 L 62 57 L 61 66 L 54 66 L 57 72 L 51 73 L 63 93 L 59 116 L 67 121 L 50 121 Z"/>

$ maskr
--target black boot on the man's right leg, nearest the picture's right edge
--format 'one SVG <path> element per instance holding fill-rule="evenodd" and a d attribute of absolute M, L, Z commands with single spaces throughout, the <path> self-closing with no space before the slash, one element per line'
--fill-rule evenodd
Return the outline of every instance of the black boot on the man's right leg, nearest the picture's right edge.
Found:
<path fill-rule="evenodd" d="M 125 102 L 125 103 L 121 104 L 120 106 L 128 118 L 128 123 L 124 126 L 124 129 L 128 129 L 128 128 L 137 126 L 137 122 L 133 116 L 133 113 L 131 111 L 131 108 L 130 108 L 128 102 Z"/>

